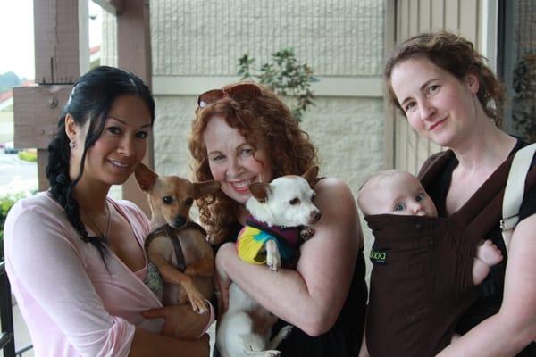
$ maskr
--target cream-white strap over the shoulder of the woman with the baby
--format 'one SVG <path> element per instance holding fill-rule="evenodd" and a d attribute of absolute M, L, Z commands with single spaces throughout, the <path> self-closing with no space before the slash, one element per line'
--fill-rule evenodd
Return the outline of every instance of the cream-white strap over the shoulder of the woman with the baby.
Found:
<path fill-rule="evenodd" d="M 507 187 L 502 204 L 502 220 L 500 228 L 505 246 L 510 245 L 512 233 L 519 222 L 519 209 L 523 203 L 524 183 L 531 168 L 532 157 L 536 152 L 536 143 L 527 145 L 515 153 L 514 161 L 508 173 Z"/>

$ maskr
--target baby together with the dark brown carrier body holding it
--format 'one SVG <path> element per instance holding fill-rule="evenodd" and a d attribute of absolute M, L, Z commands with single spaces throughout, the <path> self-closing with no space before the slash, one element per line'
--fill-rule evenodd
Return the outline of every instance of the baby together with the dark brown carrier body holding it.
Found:
<path fill-rule="evenodd" d="M 374 234 L 359 356 L 391 354 L 386 340 L 397 345 L 398 355 L 435 355 L 458 337 L 456 320 L 472 302 L 471 286 L 502 260 L 500 250 L 485 240 L 474 252 L 463 233 L 452 234 L 456 229 L 448 228 L 448 220 L 434 222 L 434 203 L 406 171 L 374 175 L 359 190 L 357 203 Z"/>

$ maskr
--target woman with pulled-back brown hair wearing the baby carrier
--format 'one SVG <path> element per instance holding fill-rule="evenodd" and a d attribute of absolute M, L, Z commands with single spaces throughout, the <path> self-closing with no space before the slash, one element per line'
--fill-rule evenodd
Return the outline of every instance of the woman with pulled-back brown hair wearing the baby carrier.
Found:
<path fill-rule="evenodd" d="M 391 103 L 409 125 L 449 149 L 423 165 L 435 168 L 433 178 L 423 184 L 440 219 L 473 220 L 479 212 L 466 214 L 468 208 L 486 198 L 490 187 L 506 185 L 506 177 L 498 184 L 498 171 L 526 145 L 495 125 L 501 119 L 503 87 L 473 44 L 448 32 L 422 34 L 400 44 L 389 57 L 384 79 Z M 427 172 L 430 176 L 432 171 Z M 484 237 L 498 245 L 505 259 L 492 267 L 475 302 L 457 322 L 456 331 L 464 336 L 441 356 L 536 355 L 536 187 L 525 191 L 508 247 L 499 219 L 500 212 Z"/>

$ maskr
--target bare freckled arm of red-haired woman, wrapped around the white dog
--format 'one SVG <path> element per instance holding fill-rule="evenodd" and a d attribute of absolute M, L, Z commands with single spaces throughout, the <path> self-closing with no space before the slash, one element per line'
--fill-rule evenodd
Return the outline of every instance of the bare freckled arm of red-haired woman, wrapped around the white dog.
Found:
<path fill-rule="evenodd" d="M 338 179 L 322 179 L 314 203 L 322 219 L 301 247 L 297 270 L 276 273 L 240 261 L 234 245 L 222 245 L 216 265 L 247 294 L 281 319 L 318 336 L 329 330 L 348 295 L 363 237 L 354 197 Z M 225 288 L 226 283 L 222 284 Z"/>

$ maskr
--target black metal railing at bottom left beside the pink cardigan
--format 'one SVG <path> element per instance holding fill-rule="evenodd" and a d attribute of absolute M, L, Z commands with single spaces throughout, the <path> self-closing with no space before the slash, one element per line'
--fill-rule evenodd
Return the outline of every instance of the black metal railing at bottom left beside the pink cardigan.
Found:
<path fill-rule="evenodd" d="M 0 247 L 1 249 L 1 247 Z M 11 287 L 5 272 L 5 262 L 0 262 L 0 322 L 2 323 L 2 333 L 0 334 L 0 350 L 4 351 L 4 357 L 21 357 L 33 348 L 27 345 L 19 351 L 15 351 L 15 338 L 13 333 L 13 302 L 11 298 Z"/>

